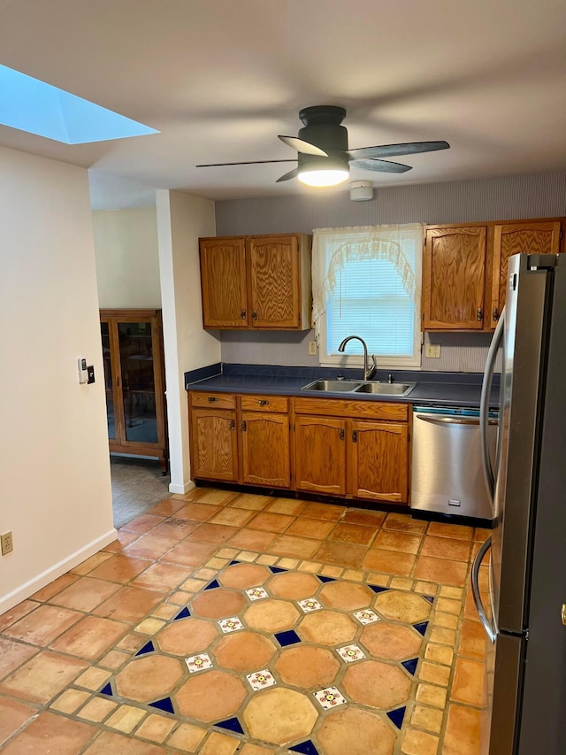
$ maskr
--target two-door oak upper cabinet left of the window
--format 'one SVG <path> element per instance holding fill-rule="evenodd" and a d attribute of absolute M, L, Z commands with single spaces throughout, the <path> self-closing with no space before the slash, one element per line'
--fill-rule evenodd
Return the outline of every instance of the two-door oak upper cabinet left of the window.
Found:
<path fill-rule="evenodd" d="M 310 235 L 203 238 L 199 243 L 204 327 L 310 328 Z"/>

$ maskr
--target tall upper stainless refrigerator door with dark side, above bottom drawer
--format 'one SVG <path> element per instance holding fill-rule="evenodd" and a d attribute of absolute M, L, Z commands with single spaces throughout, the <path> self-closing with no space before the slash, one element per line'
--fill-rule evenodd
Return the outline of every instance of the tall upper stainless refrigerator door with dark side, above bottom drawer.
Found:
<path fill-rule="evenodd" d="M 548 255 L 553 266 L 555 258 Z M 532 269 L 530 256 L 509 259 L 509 289 L 501 380 L 498 474 L 492 535 L 493 612 L 496 627 L 521 634 L 527 628 L 527 580 L 543 402 L 548 269 Z"/>

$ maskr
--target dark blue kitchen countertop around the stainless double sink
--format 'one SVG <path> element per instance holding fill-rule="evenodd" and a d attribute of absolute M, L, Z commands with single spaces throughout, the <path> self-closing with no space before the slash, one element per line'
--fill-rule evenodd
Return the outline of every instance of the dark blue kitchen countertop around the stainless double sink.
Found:
<path fill-rule="evenodd" d="M 317 398 L 348 398 L 356 401 L 393 401 L 423 406 L 454 406 L 478 408 L 482 375 L 478 373 L 425 373 L 392 370 L 395 382 L 416 382 L 405 397 L 369 395 L 364 393 L 302 390 L 304 385 L 318 378 L 333 379 L 339 374 L 348 379 L 360 379 L 360 369 L 333 367 L 294 367 L 265 365 L 217 364 L 185 374 L 187 390 L 219 391 L 227 393 L 264 393 L 280 396 Z M 386 380 L 388 371 L 379 371 L 377 380 Z M 490 406 L 499 406 L 499 375 L 493 378 Z"/>

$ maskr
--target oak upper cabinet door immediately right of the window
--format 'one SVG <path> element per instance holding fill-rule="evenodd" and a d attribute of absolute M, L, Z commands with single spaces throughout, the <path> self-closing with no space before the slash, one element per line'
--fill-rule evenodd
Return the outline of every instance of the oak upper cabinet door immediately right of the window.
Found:
<path fill-rule="evenodd" d="M 486 226 L 428 228 L 423 258 L 423 329 L 484 327 Z"/>

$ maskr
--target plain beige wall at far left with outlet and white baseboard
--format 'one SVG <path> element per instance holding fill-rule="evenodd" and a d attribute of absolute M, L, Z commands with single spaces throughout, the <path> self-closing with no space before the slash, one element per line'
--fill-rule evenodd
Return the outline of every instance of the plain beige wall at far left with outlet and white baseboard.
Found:
<path fill-rule="evenodd" d="M 0 255 L 1 613 L 116 534 L 87 172 L 0 148 Z"/>

